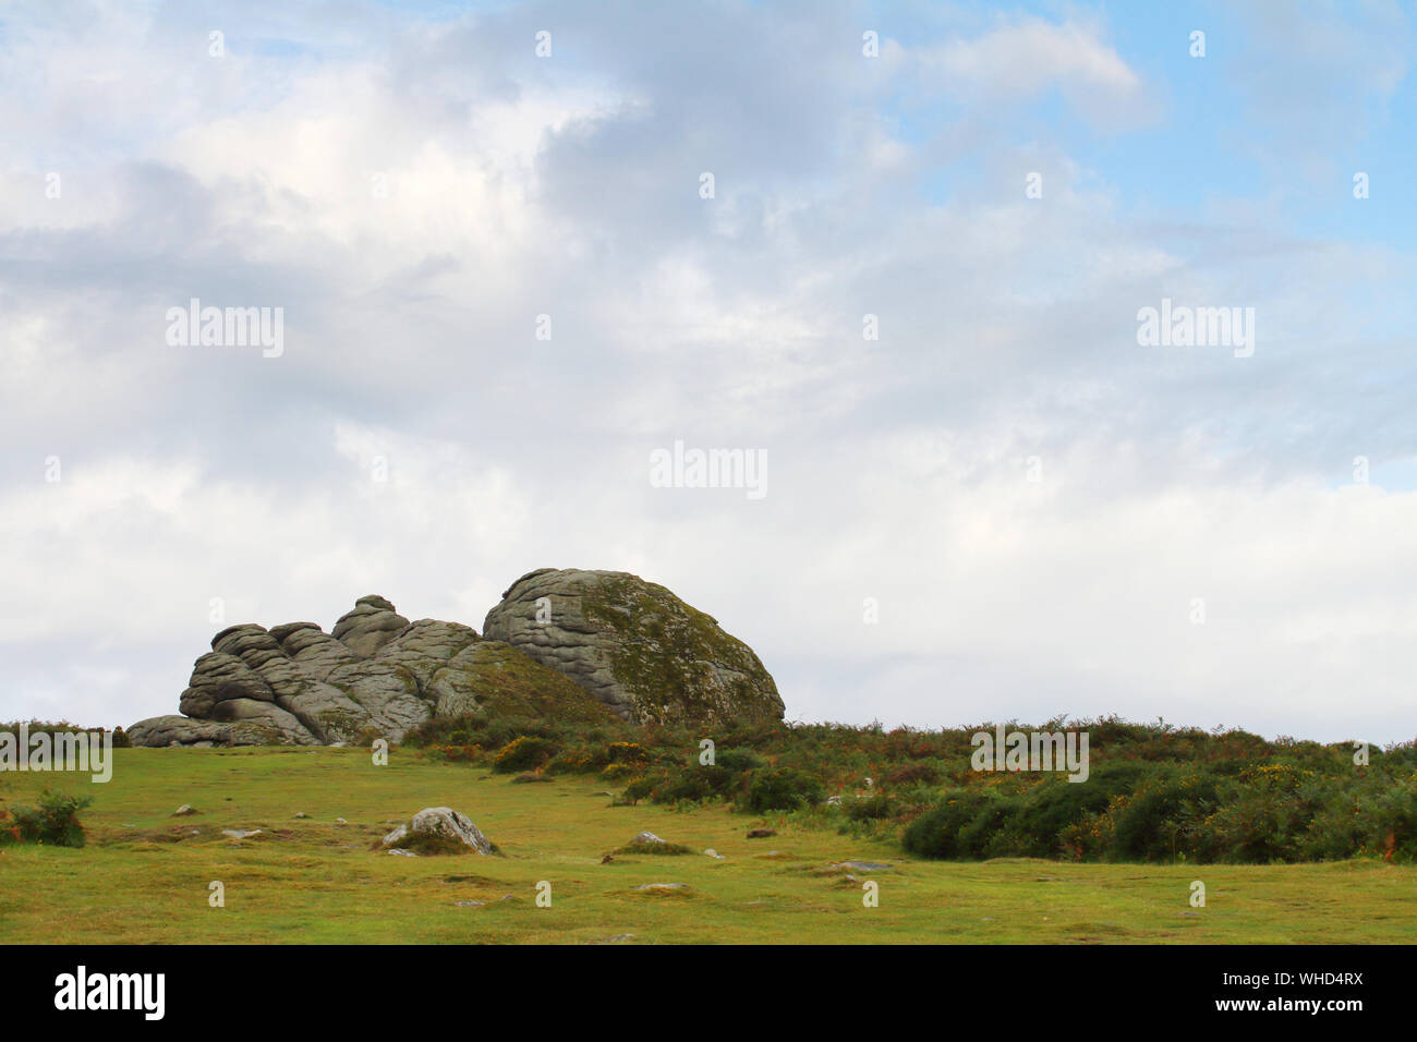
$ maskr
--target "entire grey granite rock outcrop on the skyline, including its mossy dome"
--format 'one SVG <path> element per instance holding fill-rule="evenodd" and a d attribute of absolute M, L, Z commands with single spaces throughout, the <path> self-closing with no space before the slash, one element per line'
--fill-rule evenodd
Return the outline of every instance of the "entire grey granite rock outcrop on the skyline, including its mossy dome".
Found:
<path fill-rule="evenodd" d="M 197 659 L 181 716 L 129 729 L 135 746 L 400 741 L 429 717 L 476 713 L 633 723 L 777 720 L 758 656 L 665 587 L 623 571 L 541 568 L 489 614 L 410 622 L 360 597 L 315 622 L 227 627 Z"/>

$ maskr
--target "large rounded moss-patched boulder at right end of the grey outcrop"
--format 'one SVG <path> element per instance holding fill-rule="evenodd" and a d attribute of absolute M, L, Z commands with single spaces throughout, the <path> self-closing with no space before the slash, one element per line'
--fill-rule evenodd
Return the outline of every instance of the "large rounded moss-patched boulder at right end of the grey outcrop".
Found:
<path fill-rule="evenodd" d="M 530 571 L 487 612 L 483 635 L 565 675 L 633 723 L 782 719 L 778 688 L 748 645 L 628 571 Z"/>

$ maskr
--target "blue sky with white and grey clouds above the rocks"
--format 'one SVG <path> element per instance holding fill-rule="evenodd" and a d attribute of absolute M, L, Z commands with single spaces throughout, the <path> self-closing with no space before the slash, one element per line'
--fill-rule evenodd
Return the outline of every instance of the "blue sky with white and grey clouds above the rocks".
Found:
<path fill-rule="evenodd" d="M 0 720 L 580 567 L 789 720 L 1413 740 L 1414 14 L 6 3 Z"/>

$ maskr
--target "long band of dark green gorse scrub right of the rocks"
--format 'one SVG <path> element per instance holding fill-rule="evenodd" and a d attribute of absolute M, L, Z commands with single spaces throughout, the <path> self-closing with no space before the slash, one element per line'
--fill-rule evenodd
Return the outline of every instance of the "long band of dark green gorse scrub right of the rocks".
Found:
<path fill-rule="evenodd" d="M 975 732 L 836 723 L 704 729 L 473 716 L 434 720 L 408 744 L 499 771 L 597 774 L 621 802 L 724 801 L 799 812 L 928 858 L 1141 862 L 1417 861 L 1417 747 L 1319 744 L 1115 716 L 1050 720 L 1085 730 L 1087 781 L 976 771 Z M 713 764 L 699 763 L 713 737 Z M 452 751 L 456 749 L 456 751 Z M 867 784 L 867 778 L 871 784 Z M 840 800 L 823 807 L 828 794 Z"/>

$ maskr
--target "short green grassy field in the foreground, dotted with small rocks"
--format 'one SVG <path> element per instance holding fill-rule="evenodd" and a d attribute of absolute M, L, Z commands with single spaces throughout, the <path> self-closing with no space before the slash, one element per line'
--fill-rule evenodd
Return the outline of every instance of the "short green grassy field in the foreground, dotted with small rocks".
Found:
<path fill-rule="evenodd" d="M 905 861 L 900 849 L 721 807 L 612 807 L 604 781 L 513 784 L 394 750 L 120 749 L 113 780 L 0 775 L 0 800 L 92 795 L 84 849 L 0 848 L 6 943 L 1410 943 L 1417 869 Z M 180 804 L 200 814 L 173 818 Z M 370 849 L 422 807 L 502 856 Z M 309 815 L 295 818 L 296 812 Z M 344 818 L 347 824 L 336 819 Z M 747 839 L 768 825 L 778 835 Z M 221 829 L 262 829 L 235 841 Z M 649 829 L 682 856 L 601 858 Z M 196 834 L 193 834 L 196 832 Z M 713 848 L 721 861 L 704 856 Z M 888 862 L 870 873 L 837 862 Z M 879 906 L 863 904 L 864 879 Z M 1189 903 L 1206 885 L 1206 907 Z M 208 906 L 208 885 L 225 906 Z M 551 906 L 538 907 L 537 885 Z M 686 889 L 643 892 L 643 883 Z M 459 902 L 483 902 L 459 904 Z"/>

